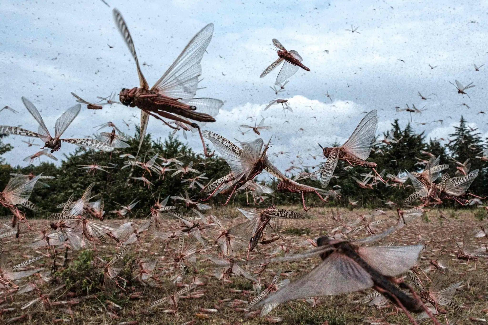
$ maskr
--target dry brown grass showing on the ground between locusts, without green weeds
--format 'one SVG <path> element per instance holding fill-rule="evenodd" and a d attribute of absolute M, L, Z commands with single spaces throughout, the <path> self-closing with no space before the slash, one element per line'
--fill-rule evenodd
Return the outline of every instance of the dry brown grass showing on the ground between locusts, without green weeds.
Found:
<path fill-rule="evenodd" d="M 288 207 L 289 208 L 289 207 Z M 290 208 L 291 210 L 297 210 L 297 207 Z M 341 210 L 344 212 L 343 218 L 353 218 L 361 213 L 367 213 L 366 210 Z M 452 323 L 457 320 L 457 324 L 472 324 L 468 317 L 487 318 L 488 312 L 488 274 L 487 274 L 487 260 L 479 259 L 477 263 L 477 269 L 474 269 L 474 263 L 470 262 L 466 265 L 466 261 L 460 261 L 455 258 L 455 252 L 457 250 L 454 241 L 461 241 L 463 231 L 472 231 L 482 224 L 486 225 L 486 221 L 479 221 L 474 218 L 471 211 L 456 211 L 456 210 L 443 210 L 444 214 L 450 218 L 449 220 L 440 219 L 437 211 L 431 211 L 426 214 L 427 221 L 417 221 L 407 227 L 398 230 L 388 238 L 384 240 L 384 243 L 389 241 L 397 241 L 399 244 L 417 244 L 419 240 L 422 240 L 428 245 L 428 249 L 422 253 L 419 259 L 419 265 L 422 268 L 427 268 L 431 259 L 437 255 L 441 249 L 447 249 L 451 254 L 450 265 L 452 272 L 448 278 L 448 285 L 458 281 L 463 281 L 462 287 L 458 290 L 454 296 L 454 300 L 458 305 L 464 306 L 464 310 L 461 312 L 453 312 L 447 307 L 447 318 Z M 233 208 L 221 208 L 213 211 L 221 219 L 224 219 L 224 224 L 235 224 L 238 221 L 242 221 L 243 217 L 239 216 Z M 310 211 L 310 215 L 313 219 L 310 220 L 298 220 L 298 221 L 285 221 L 281 223 L 280 228 L 283 231 L 287 239 L 285 248 L 290 249 L 291 252 L 304 250 L 304 247 L 298 247 L 296 244 L 302 242 L 306 238 L 314 238 L 316 236 L 325 234 L 328 230 L 335 227 L 337 223 L 331 219 L 330 209 L 315 208 Z M 388 210 L 388 221 L 384 225 L 380 225 L 380 229 L 385 229 L 395 223 L 396 212 L 394 210 Z M 239 216 L 239 219 L 235 219 Z M 227 217 L 227 218 L 225 218 Z M 110 222 L 110 221 L 109 221 Z M 142 223 L 142 221 L 137 221 Z M 113 223 L 120 224 L 122 221 L 113 221 Z M 31 220 L 31 225 L 34 231 L 46 229 L 48 227 L 47 220 Z M 168 222 L 167 227 L 176 226 L 176 222 Z M 365 232 L 359 232 L 358 237 L 366 236 Z M 8 261 L 8 265 L 18 263 L 25 260 L 28 257 L 36 256 L 38 253 L 34 249 L 22 248 L 26 243 L 33 241 L 35 235 L 31 233 L 21 234 L 19 239 L 13 238 L 9 241 L 4 241 L 3 253 L 4 258 Z M 52 301 L 65 301 L 69 299 L 70 295 L 74 297 L 82 298 L 86 294 L 87 284 L 91 284 L 89 294 L 90 299 L 82 300 L 79 304 L 71 306 L 74 313 L 74 322 L 77 324 L 118 324 L 119 322 L 137 321 L 139 324 L 183 324 L 185 322 L 196 320 L 196 324 L 268 324 L 268 320 L 264 318 L 246 318 L 246 313 L 235 310 L 234 307 L 228 306 L 229 301 L 223 301 L 229 299 L 230 302 L 234 299 L 241 299 L 250 301 L 255 295 L 252 292 L 252 283 L 248 280 L 240 277 L 232 277 L 230 281 L 220 281 L 212 277 L 213 270 L 215 269 L 208 261 L 205 261 L 203 255 L 198 256 L 198 274 L 195 274 L 205 285 L 197 287 L 196 290 L 201 290 L 204 295 L 200 298 L 182 299 L 179 304 L 178 313 L 172 314 L 163 311 L 163 308 L 156 310 L 149 310 L 148 306 L 150 302 L 157 298 L 161 298 L 164 295 L 171 294 L 175 291 L 174 284 L 169 280 L 175 271 L 172 269 L 173 262 L 171 254 L 163 250 L 163 243 L 156 239 L 151 233 L 145 233 L 142 235 L 141 242 L 134 244 L 127 258 L 126 268 L 122 271 L 123 275 L 127 279 L 130 279 L 130 273 L 134 276 L 134 271 L 137 269 L 135 261 L 138 258 L 158 258 L 158 269 L 155 274 L 160 274 L 162 284 L 156 282 L 149 282 L 148 285 L 142 285 L 137 280 L 129 282 L 125 289 L 127 292 L 119 290 L 113 297 L 105 297 L 103 291 L 100 291 L 102 287 L 99 283 L 100 278 L 91 278 L 85 281 L 84 285 L 78 283 L 76 287 L 71 290 L 60 290 L 53 295 Z M 113 242 L 112 242 L 113 243 Z M 476 240 L 479 246 L 487 244 L 486 238 Z M 280 241 L 274 242 L 266 247 L 263 247 L 266 253 L 270 253 L 277 248 Z M 171 243 L 171 249 L 176 247 L 177 243 Z M 478 246 L 478 247 L 479 247 Z M 115 245 L 101 245 L 97 244 L 98 256 L 103 259 L 107 259 L 116 251 Z M 45 249 L 38 249 L 40 252 L 45 253 Z M 203 249 L 201 253 L 215 254 L 215 250 L 208 248 Z M 80 253 L 70 253 L 69 265 L 73 266 L 75 260 Z M 257 257 L 257 253 L 252 256 Z M 278 253 L 282 255 L 283 252 Z M 62 255 L 62 254 L 61 254 Z M 244 255 L 242 255 L 244 256 Z M 63 257 L 59 256 L 58 265 L 61 269 Z M 269 265 L 268 268 L 260 275 L 259 280 L 262 284 L 269 283 L 274 273 L 281 269 L 285 272 L 282 275 L 282 279 L 289 278 L 293 280 L 306 270 L 310 270 L 320 259 L 309 258 L 305 261 L 282 263 Z M 90 267 L 92 271 L 94 268 L 100 267 L 102 262 L 94 259 L 94 264 Z M 45 257 L 41 261 L 35 263 L 36 267 L 43 266 L 46 270 L 46 276 L 50 275 L 49 270 L 52 266 L 52 259 Z M 248 267 L 248 271 L 253 271 L 259 267 Z M 83 278 L 83 274 L 78 274 Z M 188 275 L 183 283 L 189 283 L 192 279 L 192 275 Z M 65 282 L 65 279 L 60 277 L 54 277 L 47 282 L 40 280 L 39 277 L 32 276 L 27 281 L 36 280 L 40 285 L 43 293 L 49 292 L 55 287 L 59 287 Z M 423 280 L 427 281 L 424 277 Z M 88 282 L 90 281 L 90 282 Z M 93 281 L 93 283 L 91 282 Z M 326 276 L 324 277 L 326 281 Z M 428 283 L 428 281 L 427 281 Z M 83 288 L 84 287 L 84 291 Z M 88 286 L 89 287 L 89 286 Z M 242 292 L 230 292 L 232 289 L 243 290 Z M 70 293 L 70 292 L 75 292 Z M 130 299 L 129 296 L 132 292 L 142 291 L 142 298 Z M 369 293 L 366 292 L 366 293 Z M 377 310 L 375 308 L 364 305 L 353 304 L 352 301 L 361 298 L 365 293 L 355 292 L 346 295 L 326 297 L 318 306 L 312 308 L 305 301 L 296 301 L 284 304 L 273 310 L 269 316 L 279 316 L 283 318 L 281 324 L 322 324 L 328 322 L 328 324 L 369 324 L 377 319 L 382 319 L 390 324 L 408 324 L 407 318 L 402 312 L 394 313 L 395 308 L 390 306 L 385 309 Z M 13 317 L 20 316 L 24 311 L 20 310 L 20 306 L 27 301 L 36 297 L 35 293 L 29 293 L 25 295 L 13 294 L 12 297 L 7 297 L 8 302 L 3 303 L 1 308 L 17 307 L 14 311 L 5 311 L 0 315 L 0 322 L 5 322 Z M 12 300 L 13 299 L 13 300 Z M 111 308 L 107 304 L 106 300 L 110 299 L 116 304 L 122 307 L 122 310 L 118 308 Z M 244 307 L 241 305 L 238 307 Z M 67 306 L 53 306 L 51 310 L 37 313 L 32 318 L 25 318 L 19 323 L 26 324 L 51 324 L 53 321 L 58 320 L 62 322 L 72 322 L 70 316 L 63 311 Z M 217 313 L 205 314 L 201 312 L 200 308 L 216 308 L 219 309 Z M 115 319 L 111 317 L 107 311 L 120 317 Z M 209 317 L 209 318 L 206 318 Z M 439 320 L 445 324 L 443 316 L 439 317 Z"/>

